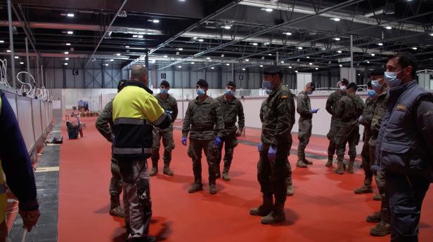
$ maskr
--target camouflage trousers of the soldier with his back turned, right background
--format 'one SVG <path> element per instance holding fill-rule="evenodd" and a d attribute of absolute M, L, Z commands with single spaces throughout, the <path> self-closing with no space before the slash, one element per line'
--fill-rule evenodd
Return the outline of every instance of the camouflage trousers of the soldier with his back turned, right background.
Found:
<path fill-rule="evenodd" d="M 337 147 L 337 159 L 344 159 L 346 152 L 346 144 L 349 143 L 349 157 L 356 158 L 356 145 L 359 143 L 359 124 L 358 123 L 342 123 L 335 135 L 334 142 Z"/>

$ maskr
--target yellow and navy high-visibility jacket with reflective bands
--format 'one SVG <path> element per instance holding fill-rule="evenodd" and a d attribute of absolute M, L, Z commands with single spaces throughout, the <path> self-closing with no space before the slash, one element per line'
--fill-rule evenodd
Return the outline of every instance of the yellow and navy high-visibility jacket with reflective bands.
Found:
<path fill-rule="evenodd" d="M 112 119 L 115 125 L 112 154 L 119 161 L 149 158 L 153 126 L 167 128 L 172 121 L 152 90 L 139 81 L 127 81 L 117 93 L 112 102 Z"/>

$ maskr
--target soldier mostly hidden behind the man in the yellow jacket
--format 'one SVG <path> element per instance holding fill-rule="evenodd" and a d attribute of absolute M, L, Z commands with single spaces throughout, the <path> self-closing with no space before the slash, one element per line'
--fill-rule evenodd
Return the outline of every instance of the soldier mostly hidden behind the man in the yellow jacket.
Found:
<path fill-rule="evenodd" d="M 120 80 L 117 85 L 117 92 L 122 90 L 124 83 L 127 80 Z M 99 133 L 108 140 L 113 142 L 113 128 L 114 123 L 112 122 L 112 100 L 105 105 L 101 115 L 96 120 L 96 129 Z M 110 180 L 110 215 L 116 217 L 124 217 L 124 210 L 120 206 L 119 196 L 122 193 L 122 178 L 120 177 L 120 170 L 117 160 L 111 156 L 111 180 Z"/>

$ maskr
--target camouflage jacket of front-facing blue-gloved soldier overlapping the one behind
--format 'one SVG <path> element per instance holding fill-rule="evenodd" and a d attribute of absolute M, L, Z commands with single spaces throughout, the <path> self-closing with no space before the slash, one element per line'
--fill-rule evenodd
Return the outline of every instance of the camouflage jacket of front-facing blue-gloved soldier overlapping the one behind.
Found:
<path fill-rule="evenodd" d="M 182 137 L 196 140 L 213 140 L 215 135 L 224 137 L 224 120 L 219 102 L 211 97 L 200 102 L 191 100 L 183 119 Z"/>

